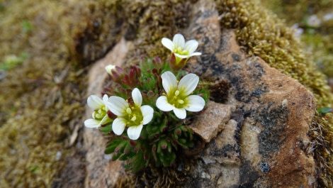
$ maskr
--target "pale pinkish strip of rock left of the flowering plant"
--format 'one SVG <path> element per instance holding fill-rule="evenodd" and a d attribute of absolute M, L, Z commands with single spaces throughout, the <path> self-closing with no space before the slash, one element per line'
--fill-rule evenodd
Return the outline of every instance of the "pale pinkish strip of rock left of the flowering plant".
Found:
<path fill-rule="evenodd" d="M 130 42 L 124 39 L 115 45 L 111 52 L 101 60 L 98 60 L 89 70 L 89 88 L 87 96 L 95 94 L 101 96 L 103 92 L 103 83 L 108 77 L 104 67 L 106 65 L 123 64 Z M 86 108 L 86 118 L 91 118 L 92 109 Z M 111 187 L 116 183 L 120 175 L 123 175 L 124 169 L 122 162 L 111 160 L 111 155 L 105 155 L 106 139 L 98 129 L 84 129 L 84 147 L 86 148 L 86 180 L 85 187 Z"/>

